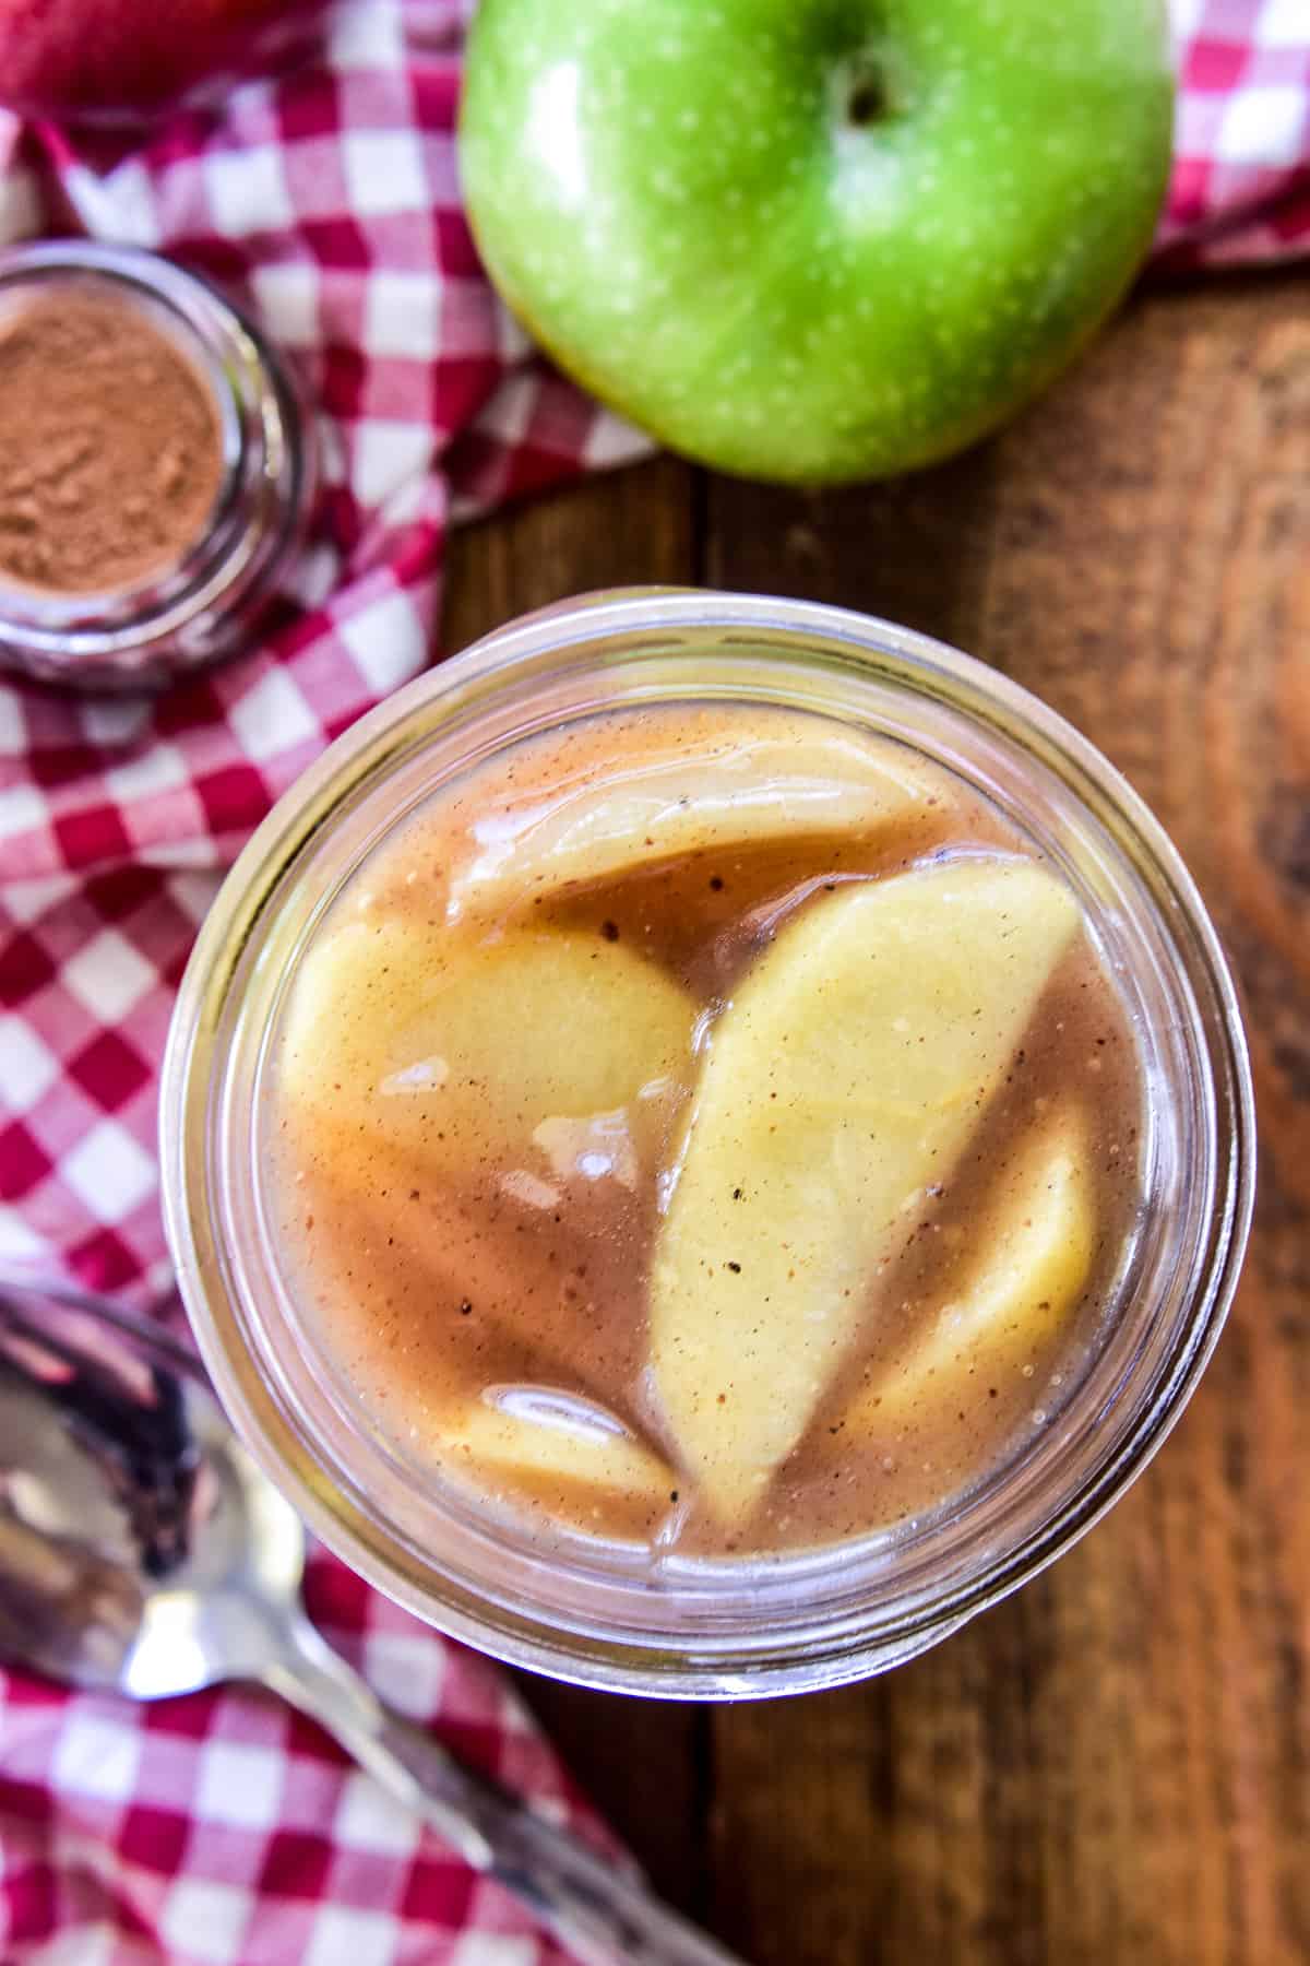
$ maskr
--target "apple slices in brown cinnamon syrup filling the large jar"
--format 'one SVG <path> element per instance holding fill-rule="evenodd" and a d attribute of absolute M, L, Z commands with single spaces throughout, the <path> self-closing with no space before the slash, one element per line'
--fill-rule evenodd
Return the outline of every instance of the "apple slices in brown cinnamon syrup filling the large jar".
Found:
<path fill-rule="evenodd" d="M 890 739 L 625 710 L 432 794 L 289 993 L 275 1231 L 424 1473 L 656 1549 L 825 1543 L 1051 1425 L 1141 1205 L 1063 877 Z"/>

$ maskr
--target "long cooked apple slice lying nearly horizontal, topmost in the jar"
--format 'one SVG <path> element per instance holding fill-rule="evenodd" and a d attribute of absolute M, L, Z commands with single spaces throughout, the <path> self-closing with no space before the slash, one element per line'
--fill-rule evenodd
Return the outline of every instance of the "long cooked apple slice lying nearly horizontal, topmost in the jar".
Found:
<path fill-rule="evenodd" d="M 499 916 L 683 853 L 884 834 L 949 806 L 949 779 L 886 739 L 795 723 L 689 743 L 670 733 L 603 779 L 473 826 L 448 912 Z"/>

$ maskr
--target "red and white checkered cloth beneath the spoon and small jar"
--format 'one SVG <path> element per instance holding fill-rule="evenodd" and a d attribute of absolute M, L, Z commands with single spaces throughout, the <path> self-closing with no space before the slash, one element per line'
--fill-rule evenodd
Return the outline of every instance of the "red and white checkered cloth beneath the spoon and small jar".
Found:
<path fill-rule="evenodd" d="M 126 147 L 0 114 L 0 242 L 84 230 L 226 283 L 302 364 L 328 482 L 297 606 L 157 700 L 0 680 L 0 1268 L 151 1301 L 173 991 L 222 869 L 297 773 L 436 653 L 452 521 L 644 442 L 532 356 L 454 163 L 469 0 L 354 0 L 320 59 Z M 1167 265 L 1310 250 L 1310 0 L 1174 0 Z M 640 568 L 632 568 L 640 576 Z M 334 1559 L 310 1608 L 377 1689 L 583 1822 L 491 1667 Z M 304 1720 L 0 1679 L 4 1966 L 538 1966 L 558 1950 Z"/>

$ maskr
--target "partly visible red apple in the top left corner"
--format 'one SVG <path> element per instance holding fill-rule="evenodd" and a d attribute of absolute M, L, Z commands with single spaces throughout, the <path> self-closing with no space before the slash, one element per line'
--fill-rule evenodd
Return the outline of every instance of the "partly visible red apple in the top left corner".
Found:
<path fill-rule="evenodd" d="M 0 0 L 0 100 L 47 116 L 167 102 L 314 0 Z M 281 37 L 281 35 L 279 35 Z"/>

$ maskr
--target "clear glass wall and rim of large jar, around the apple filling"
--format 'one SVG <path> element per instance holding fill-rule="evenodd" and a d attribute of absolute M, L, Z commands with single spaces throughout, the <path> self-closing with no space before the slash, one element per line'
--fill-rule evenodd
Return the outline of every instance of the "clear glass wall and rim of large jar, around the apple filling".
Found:
<path fill-rule="evenodd" d="M 630 704 L 780 704 L 915 745 L 1066 875 L 1147 1075 L 1147 1207 L 1104 1343 L 1055 1421 L 964 1498 L 839 1545 L 662 1557 L 544 1537 L 403 1465 L 299 1315 L 261 1189 L 259 1113 L 289 981 L 363 857 L 436 784 Z M 1233 985 L 1173 845 L 1074 729 L 886 621 L 699 592 L 597 596 L 513 623 L 354 725 L 236 863 L 183 981 L 161 1093 L 169 1239 L 247 1447 L 393 1598 L 497 1657 L 628 1693 L 799 1693 L 913 1657 L 1041 1571 L 1123 1492 L 1214 1347 L 1253 1197 Z"/>

